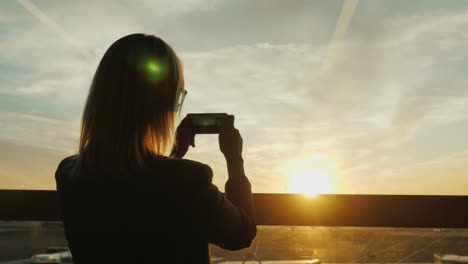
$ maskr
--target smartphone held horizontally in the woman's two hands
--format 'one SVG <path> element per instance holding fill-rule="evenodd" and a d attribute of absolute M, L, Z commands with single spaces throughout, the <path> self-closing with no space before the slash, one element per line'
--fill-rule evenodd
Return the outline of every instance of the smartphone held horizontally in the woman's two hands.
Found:
<path fill-rule="evenodd" d="M 221 121 L 226 116 L 226 113 L 187 114 L 187 117 L 192 121 L 195 134 L 219 134 Z"/>

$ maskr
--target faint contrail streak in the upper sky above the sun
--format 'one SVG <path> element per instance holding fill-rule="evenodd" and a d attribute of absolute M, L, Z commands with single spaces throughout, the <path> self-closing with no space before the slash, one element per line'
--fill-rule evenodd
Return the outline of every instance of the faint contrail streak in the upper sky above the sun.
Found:
<path fill-rule="evenodd" d="M 336 22 L 335 32 L 328 46 L 327 55 L 322 61 L 322 72 L 327 72 L 333 67 L 336 57 L 336 46 L 344 39 L 346 31 L 348 31 L 348 26 L 351 24 L 351 19 L 358 2 L 359 0 L 343 0 L 343 7 L 341 8 L 340 17 Z"/>

